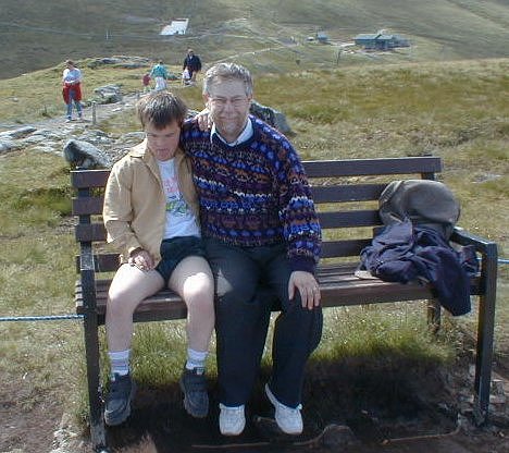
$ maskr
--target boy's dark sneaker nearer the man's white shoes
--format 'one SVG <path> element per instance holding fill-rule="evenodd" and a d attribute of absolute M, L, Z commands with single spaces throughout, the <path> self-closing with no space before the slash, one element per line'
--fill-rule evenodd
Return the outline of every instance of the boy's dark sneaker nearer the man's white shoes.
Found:
<path fill-rule="evenodd" d="M 209 413 L 209 395 L 203 368 L 184 368 L 181 377 L 181 389 L 184 392 L 184 407 L 196 418 L 207 417 Z"/>

